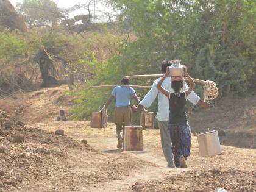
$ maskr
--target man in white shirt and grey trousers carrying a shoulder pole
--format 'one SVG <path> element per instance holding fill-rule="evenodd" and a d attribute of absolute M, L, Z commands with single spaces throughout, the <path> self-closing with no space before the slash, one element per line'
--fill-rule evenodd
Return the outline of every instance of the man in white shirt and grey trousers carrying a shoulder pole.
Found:
<path fill-rule="evenodd" d="M 162 62 L 161 71 L 163 74 L 166 73 L 166 67 L 171 65 L 168 60 L 165 60 Z M 148 108 L 151 106 L 152 102 L 155 101 L 155 98 L 158 95 L 158 110 L 157 110 L 157 120 L 158 120 L 158 127 L 160 129 L 160 135 L 161 135 L 161 144 L 163 149 L 163 154 L 165 155 L 165 159 L 167 161 L 167 166 L 174 168 L 173 163 L 173 155 L 171 151 L 171 138 L 169 135 L 169 129 L 168 129 L 168 121 L 169 121 L 169 101 L 168 98 L 161 93 L 157 88 L 157 83 L 162 77 L 156 79 L 152 85 L 151 90 L 144 96 L 143 100 L 140 102 L 140 104 L 137 107 L 132 107 L 133 113 L 137 113 L 143 108 Z M 170 90 L 171 93 L 174 93 L 174 90 L 171 88 L 171 77 L 168 77 L 165 79 L 165 81 L 162 84 L 162 87 L 166 90 Z M 185 86 L 183 86 L 183 91 L 186 91 L 188 89 L 188 85 L 185 83 Z M 207 102 L 204 102 L 201 100 L 199 96 L 197 96 L 194 91 L 192 91 L 187 98 L 190 102 L 192 102 L 193 105 L 196 105 L 197 103 L 200 104 L 204 108 L 209 108 L 210 104 Z"/>

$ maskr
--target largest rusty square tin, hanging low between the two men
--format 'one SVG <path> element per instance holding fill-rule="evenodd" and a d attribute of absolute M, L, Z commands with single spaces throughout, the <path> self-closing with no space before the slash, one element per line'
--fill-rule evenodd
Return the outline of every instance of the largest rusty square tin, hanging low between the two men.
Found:
<path fill-rule="evenodd" d="M 125 126 L 124 127 L 124 151 L 142 151 L 142 127 Z"/>

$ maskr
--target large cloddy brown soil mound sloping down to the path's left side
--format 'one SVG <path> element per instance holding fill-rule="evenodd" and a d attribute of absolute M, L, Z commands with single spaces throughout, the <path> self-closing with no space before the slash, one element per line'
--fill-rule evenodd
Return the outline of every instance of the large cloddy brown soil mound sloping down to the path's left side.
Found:
<path fill-rule="evenodd" d="M 103 154 L 57 128 L 27 127 L 0 111 L 0 191 L 85 191 L 149 166 L 127 154 Z"/>

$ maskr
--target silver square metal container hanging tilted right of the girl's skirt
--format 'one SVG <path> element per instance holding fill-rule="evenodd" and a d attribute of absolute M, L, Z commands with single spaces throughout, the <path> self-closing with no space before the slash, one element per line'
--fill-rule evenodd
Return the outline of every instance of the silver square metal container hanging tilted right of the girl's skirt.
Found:
<path fill-rule="evenodd" d="M 221 155 L 221 144 L 219 143 L 219 135 L 216 130 L 197 133 L 197 141 L 201 157 L 212 157 Z"/>

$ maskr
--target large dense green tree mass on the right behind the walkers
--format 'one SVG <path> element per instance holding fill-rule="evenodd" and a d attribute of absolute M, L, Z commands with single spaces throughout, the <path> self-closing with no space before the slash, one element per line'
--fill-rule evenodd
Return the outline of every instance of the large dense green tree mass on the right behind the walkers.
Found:
<path fill-rule="evenodd" d="M 138 36 L 119 57 L 123 65 L 137 65 L 138 73 L 146 67 L 154 71 L 160 60 L 180 58 L 194 77 L 215 80 L 221 93 L 244 91 L 252 84 L 255 1 L 112 2 Z"/>

